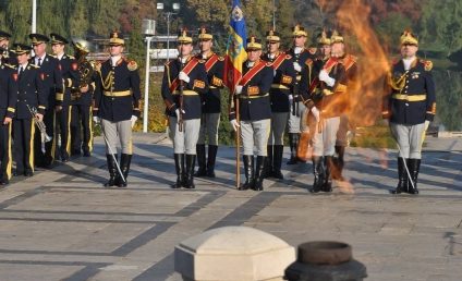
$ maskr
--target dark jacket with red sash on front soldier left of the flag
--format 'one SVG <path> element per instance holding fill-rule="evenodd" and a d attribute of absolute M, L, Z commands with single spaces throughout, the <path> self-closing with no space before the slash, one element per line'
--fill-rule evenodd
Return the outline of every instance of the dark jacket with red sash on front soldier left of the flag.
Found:
<path fill-rule="evenodd" d="M 209 84 L 207 72 L 203 60 L 190 58 L 184 65 L 181 65 L 180 60 L 172 60 L 166 64 L 162 80 L 162 98 L 166 102 L 166 114 L 175 117 L 174 111 L 180 108 L 180 86 L 173 93 L 170 90 L 170 85 L 178 77 L 183 68 L 190 63 L 190 60 L 195 60 L 197 64 L 187 74 L 190 83 L 183 82 L 183 120 L 199 119 L 202 114 L 202 95 L 208 93 Z M 195 63 L 195 62 L 192 62 Z"/>

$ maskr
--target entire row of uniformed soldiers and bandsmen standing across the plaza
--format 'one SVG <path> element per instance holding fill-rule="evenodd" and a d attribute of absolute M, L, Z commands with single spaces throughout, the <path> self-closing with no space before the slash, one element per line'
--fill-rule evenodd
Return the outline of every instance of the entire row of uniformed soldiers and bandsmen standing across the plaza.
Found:
<path fill-rule="evenodd" d="M 352 93 L 361 93 L 361 73 L 339 32 L 323 30 L 317 46 L 306 46 L 308 32 L 295 25 L 287 51 L 275 29 L 265 38 L 248 36 L 242 77 L 227 97 L 226 59 L 214 51 L 214 34 L 206 27 L 195 34 L 179 32 L 179 57 L 166 63 L 161 84 L 177 173 L 172 188 L 195 188 L 195 176 L 216 178 L 222 98 L 229 98 L 227 113 L 242 142 L 245 180 L 239 190 L 263 191 L 265 179 L 283 180 L 284 134 L 287 164 L 313 163 L 311 193 L 329 193 L 332 180 L 344 181 Z M 0 30 L 0 184 L 51 169 L 57 160 L 92 156 L 93 127 L 99 126 L 109 173 L 104 186 L 127 186 L 141 91 L 137 63 L 123 56 L 122 34 L 110 34 L 106 61 L 88 60 L 85 40 L 31 34 L 27 44 L 10 47 L 10 37 Z M 48 45 L 53 54 L 46 52 Z M 65 53 L 69 45 L 74 56 Z M 400 46 L 382 102 L 399 148 L 398 185 L 390 192 L 418 194 L 422 145 L 436 113 L 433 64 L 416 57 L 418 40 L 410 30 Z"/>

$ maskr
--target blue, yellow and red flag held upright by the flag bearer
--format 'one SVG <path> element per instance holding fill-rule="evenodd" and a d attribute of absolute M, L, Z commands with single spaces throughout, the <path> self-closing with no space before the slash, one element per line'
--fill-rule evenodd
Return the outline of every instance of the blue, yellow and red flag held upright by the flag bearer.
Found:
<path fill-rule="evenodd" d="M 228 38 L 224 61 L 223 81 L 231 93 L 234 93 L 234 87 L 242 77 L 242 64 L 247 59 L 247 52 L 245 51 L 247 33 L 244 14 L 240 5 L 240 0 L 233 0 L 230 20 L 231 34 Z"/>

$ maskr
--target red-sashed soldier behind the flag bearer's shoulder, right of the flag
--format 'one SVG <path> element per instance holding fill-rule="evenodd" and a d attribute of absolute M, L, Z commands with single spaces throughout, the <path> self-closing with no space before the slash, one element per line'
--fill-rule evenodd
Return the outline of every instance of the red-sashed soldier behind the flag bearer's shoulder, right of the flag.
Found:
<path fill-rule="evenodd" d="M 279 50 L 280 40 L 277 32 L 269 30 L 267 33 L 268 52 L 263 56 L 263 59 L 271 62 L 275 74 L 271 89 L 269 90 L 271 126 L 268 139 L 268 158 L 265 167 L 265 178 L 272 176 L 282 180 L 283 137 L 290 112 L 289 96 L 293 94 L 296 73 L 293 68 L 292 57 Z"/>

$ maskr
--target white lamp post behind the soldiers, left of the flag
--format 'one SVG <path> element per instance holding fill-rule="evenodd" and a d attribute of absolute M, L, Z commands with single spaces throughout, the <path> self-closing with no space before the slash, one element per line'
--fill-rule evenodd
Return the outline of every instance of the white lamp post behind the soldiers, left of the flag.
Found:
<path fill-rule="evenodd" d="M 143 133 L 147 133 L 148 109 L 149 109 L 149 69 L 150 69 L 150 41 L 156 34 L 156 21 L 143 20 L 143 34 L 146 36 L 146 75 L 145 75 L 145 96 L 143 109 Z"/>

